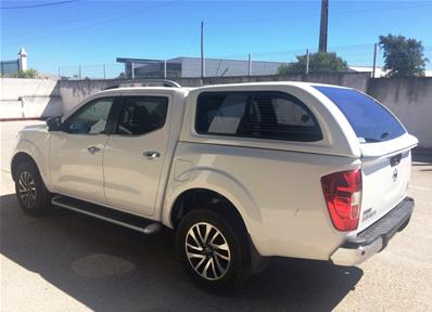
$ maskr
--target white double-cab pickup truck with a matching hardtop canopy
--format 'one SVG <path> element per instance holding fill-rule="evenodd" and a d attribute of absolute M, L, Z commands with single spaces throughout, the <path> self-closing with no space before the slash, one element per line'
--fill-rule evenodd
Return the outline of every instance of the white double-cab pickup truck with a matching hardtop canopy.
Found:
<path fill-rule="evenodd" d="M 193 281 L 241 285 L 271 256 L 357 264 L 414 209 L 416 138 L 372 98 L 304 82 L 114 88 L 26 127 L 21 207 L 174 229 Z"/>

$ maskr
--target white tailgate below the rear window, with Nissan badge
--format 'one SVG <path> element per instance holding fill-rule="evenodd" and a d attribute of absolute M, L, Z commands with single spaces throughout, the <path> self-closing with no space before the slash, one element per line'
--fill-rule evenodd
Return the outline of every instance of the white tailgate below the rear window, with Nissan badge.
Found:
<path fill-rule="evenodd" d="M 392 141 L 361 144 L 363 194 L 358 232 L 380 220 L 407 195 L 410 150 L 417 140 L 406 134 Z"/>

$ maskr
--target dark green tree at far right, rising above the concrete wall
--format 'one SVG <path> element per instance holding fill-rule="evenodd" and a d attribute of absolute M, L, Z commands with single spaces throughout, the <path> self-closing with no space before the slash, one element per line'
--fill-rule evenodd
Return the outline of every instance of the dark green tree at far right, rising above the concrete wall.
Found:
<path fill-rule="evenodd" d="M 424 76 L 424 48 L 421 41 L 404 36 L 380 36 L 380 49 L 384 50 L 384 69 L 386 77 Z"/>

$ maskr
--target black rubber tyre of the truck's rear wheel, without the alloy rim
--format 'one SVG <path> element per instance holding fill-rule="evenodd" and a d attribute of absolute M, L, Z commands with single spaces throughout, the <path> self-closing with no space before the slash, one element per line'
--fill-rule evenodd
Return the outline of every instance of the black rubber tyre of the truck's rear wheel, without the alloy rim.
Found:
<path fill-rule="evenodd" d="M 228 272 L 217 281 L 209 281 L 202 277 L 191 266 L 186 255 L 185 240 L 189 230 L 196 223 L 207 222 L 217 227 L 225 236 L 230 248 L 231 262 Z M 176 249 L 181 259 L 185 270 L 193 282 L 201 287 L 215 291 L 226 292 L 227 290 L 239 287 L 250 275 L 249 265 L 249 243 L 245 233 L 236 230 L 223 217 L 212 210 L 196 209 L 189 212 L 180 222 L 176 231 Z"/>

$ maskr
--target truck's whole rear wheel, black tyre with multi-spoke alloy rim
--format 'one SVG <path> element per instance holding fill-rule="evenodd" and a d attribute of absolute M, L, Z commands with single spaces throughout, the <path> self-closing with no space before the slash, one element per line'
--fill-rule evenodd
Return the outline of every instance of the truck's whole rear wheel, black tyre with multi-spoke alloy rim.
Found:
<path fill-rule="evenodd" d="M 212 210 L 196 209 L 177 227 L 176 249 L 182 264 L 192 281 L 207 290 L 232 290 L 251 275 L 247 233 L 233 225 Z"/>

